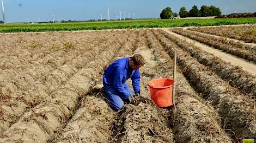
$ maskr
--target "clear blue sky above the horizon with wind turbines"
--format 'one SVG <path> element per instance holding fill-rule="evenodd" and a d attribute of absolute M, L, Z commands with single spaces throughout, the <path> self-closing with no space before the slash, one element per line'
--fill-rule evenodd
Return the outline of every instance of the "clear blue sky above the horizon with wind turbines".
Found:
<path fill-rule="evenodd" d="M 89 19 L 108 19 L 107 9 L 111 19 L 119 15 L 119 11 L 125 12 L 125 17 L 133 18 L 159 18 L 161 11 L 166 8 L 172 8 L 173 12 L 179 13 L 182 6 L 189 11 L 193 5 L 198 9 L 202 5 L 214 5 L 220 7 L 222 14 L 231 14 L 234 12 L 243 13 L 256 12 L 256 0 L 3 0 L 5 18 L 7 22 L 39 22 L 59 20 L 78 20 Z M 1 1 L 0 1 L 1 3 Z M 2 11 L 2 6 L 0 8 Z M 116 14 L 115 14 L 115 11 Z M 122 18 L 124 13 L 121 14 Z M 118 17 L 117 17 L 118 18 Z M 2 20 L 2 12 L 0 20 Z"/>

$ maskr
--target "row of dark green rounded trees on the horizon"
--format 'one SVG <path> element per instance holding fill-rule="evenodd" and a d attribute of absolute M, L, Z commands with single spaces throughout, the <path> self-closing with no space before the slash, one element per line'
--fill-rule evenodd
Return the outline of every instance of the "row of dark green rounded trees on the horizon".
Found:
<path fill-rule="evenodd" d="M 199 10 L 196 5 L 192 7 L 190 11 L 187 11 L 185 6 L 180 8 L 179 14 L 176 12 L 173 12 L 170 7 L 167 7 L 162 10 L 160 17 L 161 19 L 170 19 L 173 16 L 180 16 L 181 18 L 185 17 L 204 17 L 204 16 L 220 16 L 221 15 L 221 9 L 216 8 L 214 5 L 207 6 L 207 5 L 202 5 L 201 9 Z"/>

